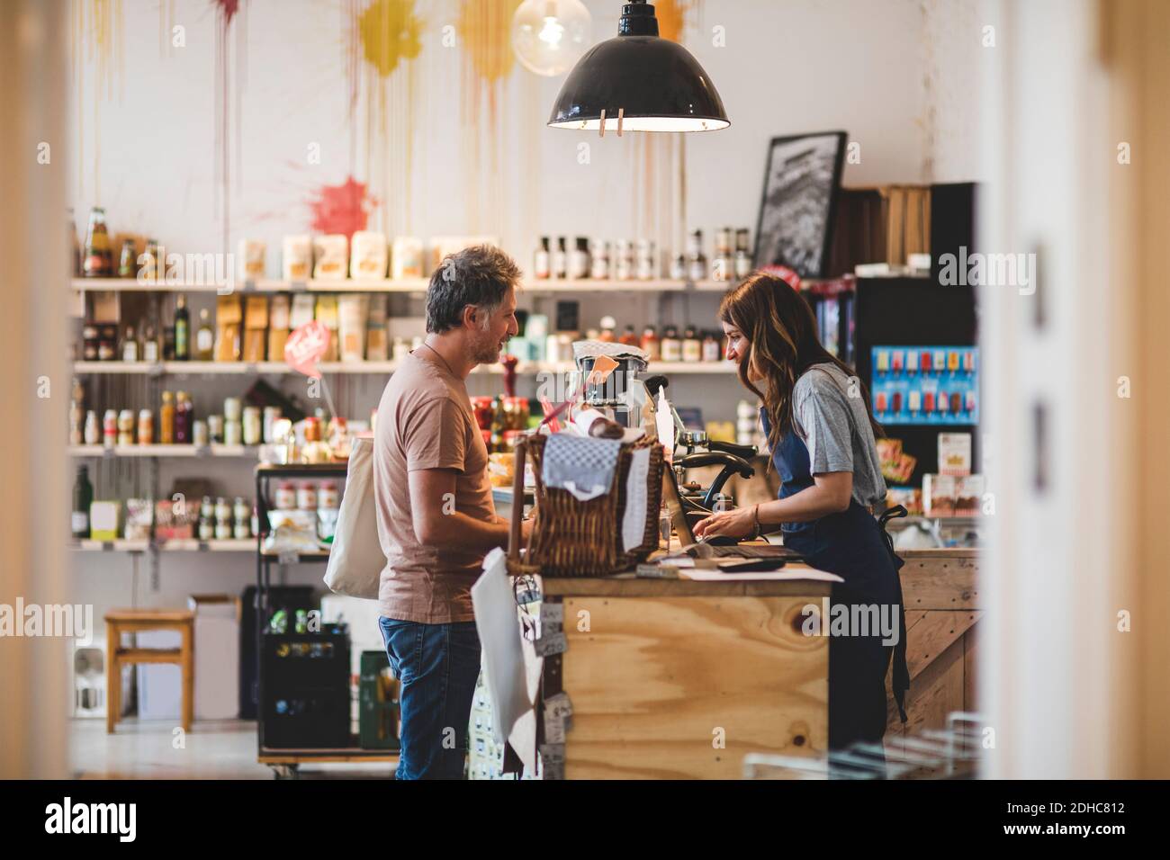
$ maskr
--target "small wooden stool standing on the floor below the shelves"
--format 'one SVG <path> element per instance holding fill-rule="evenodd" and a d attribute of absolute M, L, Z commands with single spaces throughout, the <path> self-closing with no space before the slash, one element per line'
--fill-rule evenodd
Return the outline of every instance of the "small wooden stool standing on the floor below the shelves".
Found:
<path fill-rule="evenodd" d="M 123 633 L 174 629 L 183 634 L 178 648 L 125 648 Z M 183 730 L 191 731 L 195 704 L 195 613 L 187 610 L 112 610 L 105 613 L 106 676 L 105 731 L 122 713 L 122 667 L 135 663 L 178 663 L 183 669 Z"/>

